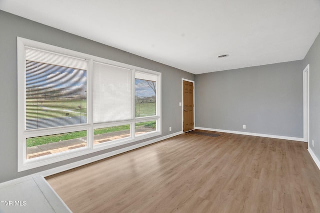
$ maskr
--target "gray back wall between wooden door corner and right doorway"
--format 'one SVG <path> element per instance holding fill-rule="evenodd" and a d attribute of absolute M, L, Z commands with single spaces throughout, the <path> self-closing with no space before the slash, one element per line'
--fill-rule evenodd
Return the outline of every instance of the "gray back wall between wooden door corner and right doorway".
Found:
<path fill-rule="evenodd" d="M 195 125 L 302 138 L 302 70 L 300 60 L 196 75 Z"/>

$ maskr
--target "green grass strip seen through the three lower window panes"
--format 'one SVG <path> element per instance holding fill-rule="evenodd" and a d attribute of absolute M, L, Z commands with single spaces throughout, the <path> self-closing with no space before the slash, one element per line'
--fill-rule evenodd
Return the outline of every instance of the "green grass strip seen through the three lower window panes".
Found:
<path fill-rule="evenodd" d="M 146 127 L 146 128 L 155 128 L 155 121 L 148 121 L 148 122 L 141 122 L 136 123 L 135 128 Z M 94 129 L 93 134 L 104 134 L 110 132 L 117 132 L 121 130 L 129 130 L 130 125 L 121 125 L 121 126 L 114 126 L 114 127 L 106 127 L 106 128 L 99 128 Z M 82 138 L 86 137 L 86 131 L 77 131 L 77 132 L 70 132 L 70 133 L 62 133 L 62 134 L 55 134 L 55 135 L 48 135 L 48 136 L 40 136 L 34 138 L 27 138 L 26 139 L 26 147 L 33 147 L 42 144 L 49 144 L 58 141 L 65 141 L 75 138 Z"/>

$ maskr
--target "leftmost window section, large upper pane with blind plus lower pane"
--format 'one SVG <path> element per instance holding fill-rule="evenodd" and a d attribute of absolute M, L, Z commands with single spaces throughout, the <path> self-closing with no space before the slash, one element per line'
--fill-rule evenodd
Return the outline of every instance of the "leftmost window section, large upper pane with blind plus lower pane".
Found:
<path fill-rule="evenodd" d="M 25 46 L 24 130 L 86 124 L 87 68 L 85 59 Z M 86 130 L 33 134 L 25 137 L 26 159 L 86 146 Z"/>

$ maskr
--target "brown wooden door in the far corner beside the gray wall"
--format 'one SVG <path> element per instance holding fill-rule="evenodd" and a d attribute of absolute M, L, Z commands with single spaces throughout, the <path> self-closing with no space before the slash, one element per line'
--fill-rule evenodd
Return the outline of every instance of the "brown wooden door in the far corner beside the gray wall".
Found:
<path fill-rule="evenodd" d="M 193 129 L 193 83 L 183 81 L 183 132 Z"/>

